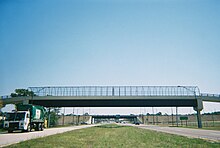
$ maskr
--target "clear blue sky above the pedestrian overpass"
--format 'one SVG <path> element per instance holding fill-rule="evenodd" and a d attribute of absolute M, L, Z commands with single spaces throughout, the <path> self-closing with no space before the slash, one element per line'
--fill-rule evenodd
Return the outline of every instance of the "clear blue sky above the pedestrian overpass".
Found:
<path fill-rule="evenodd" d="M 50 85 L 220 93 L 219 16 L 219 0 L 1 0 L 0 95 Z"/>

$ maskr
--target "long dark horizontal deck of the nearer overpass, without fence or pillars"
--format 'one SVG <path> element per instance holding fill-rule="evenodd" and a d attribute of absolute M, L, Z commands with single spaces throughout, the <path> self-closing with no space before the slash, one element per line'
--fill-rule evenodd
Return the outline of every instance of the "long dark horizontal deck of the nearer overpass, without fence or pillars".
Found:
<path fill-rule="evenodd" d="M 5 99 L 4 104 L 26 103 L 45 107 L 172 107 L 197 106 L 194 96 L 33 96 Z"/>

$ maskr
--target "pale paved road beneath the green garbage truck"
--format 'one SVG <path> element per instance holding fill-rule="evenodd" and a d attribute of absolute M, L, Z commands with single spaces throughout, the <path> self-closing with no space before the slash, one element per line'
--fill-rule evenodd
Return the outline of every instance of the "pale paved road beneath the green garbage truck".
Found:
<path fill-rule="evenodd" d="M 39 137 L 45 137 L 49 135 L 54 135 L 58 133 L 63 133 L 76 129 L 83 129 L 88 127 L 93 127 L 97 125 L 82 125 L 82 126 L 71 126 L 71 127 L 62 127 L 62 128 L 50 128 L 45 129 L 44 131 L 30 132 L 30 133 L 2 133 L 0 134 L 0 147 L 19 143 L 21 141 L 30 140 Z"/>

